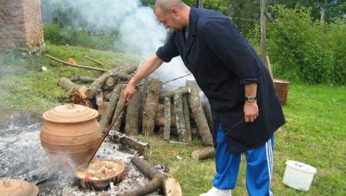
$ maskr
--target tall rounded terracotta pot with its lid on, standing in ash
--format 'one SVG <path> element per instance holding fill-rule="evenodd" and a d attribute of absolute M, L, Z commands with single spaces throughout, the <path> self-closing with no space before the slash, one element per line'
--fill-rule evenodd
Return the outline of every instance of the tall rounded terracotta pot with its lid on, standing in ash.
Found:
<path fill-rule="evenodd" d="M 43 114 L 40 141 L 52 163 L 76 168 L 86 163 L 101 142 L 99 113 L 77 104 L 55 107 Z"/>

